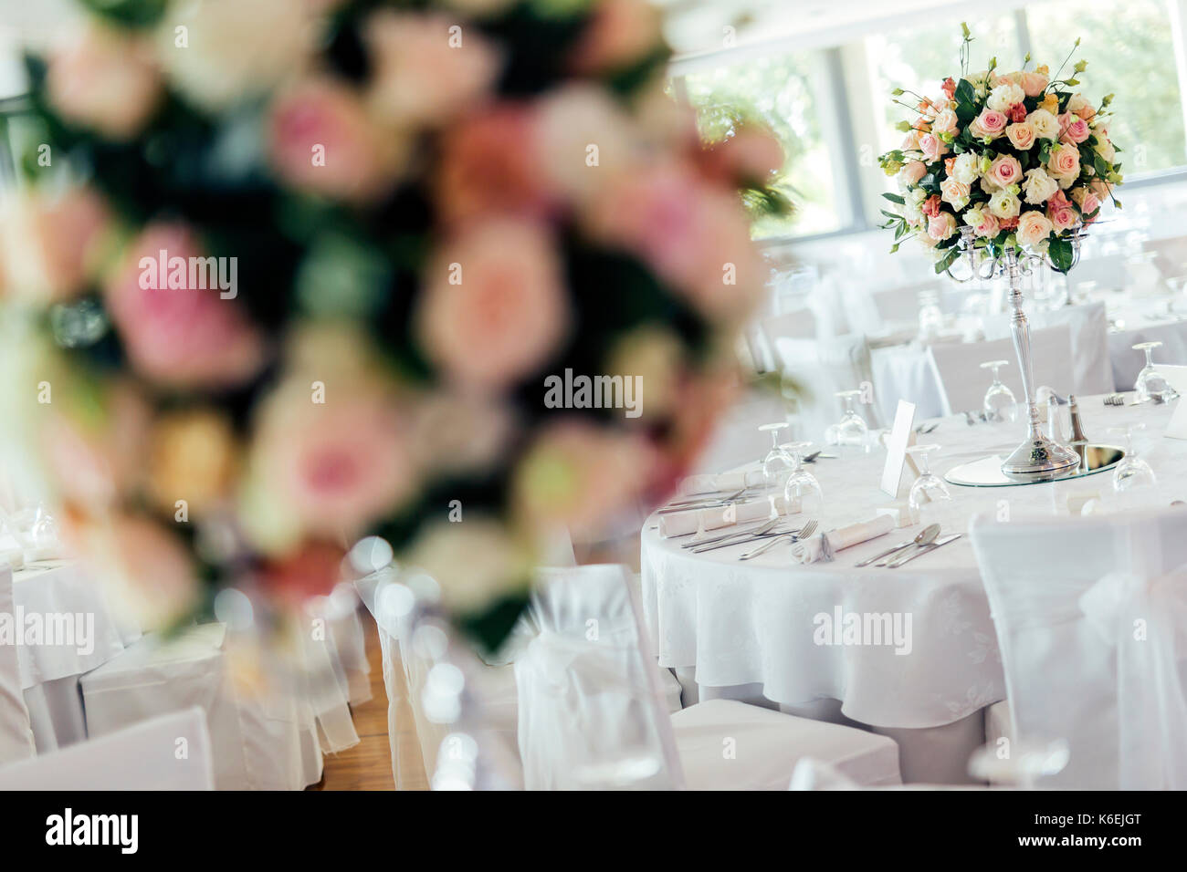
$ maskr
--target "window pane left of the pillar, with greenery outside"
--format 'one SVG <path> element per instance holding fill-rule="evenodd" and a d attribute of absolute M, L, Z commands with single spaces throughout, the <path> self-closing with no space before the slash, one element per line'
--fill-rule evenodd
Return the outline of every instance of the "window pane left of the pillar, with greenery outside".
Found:
<path fill-rule="evenodd" d="M 735 117 L 754 117 L 764 121 L 783 144 L 785 186 L 795 202 L 795 214 L 757 221 L 755 238 L 842 229 L 834 152 L 818 114 L 818 61 L 815 53 L 767 55 L 685 76 L 703 135 L 722 136 Z"/>

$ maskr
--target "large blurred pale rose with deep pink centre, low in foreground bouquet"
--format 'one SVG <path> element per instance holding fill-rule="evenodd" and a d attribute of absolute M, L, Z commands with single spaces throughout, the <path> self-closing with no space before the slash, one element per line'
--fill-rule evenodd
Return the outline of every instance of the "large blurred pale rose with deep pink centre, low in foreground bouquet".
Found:
<path fill-rule="evenodd" d="M 330 382 L 324 403 L 290 383 L 265 401 L 249 477 L 301 535 L 353 539 L 415 492 L 410 443 L 411 420 L 386 383 Z"/>

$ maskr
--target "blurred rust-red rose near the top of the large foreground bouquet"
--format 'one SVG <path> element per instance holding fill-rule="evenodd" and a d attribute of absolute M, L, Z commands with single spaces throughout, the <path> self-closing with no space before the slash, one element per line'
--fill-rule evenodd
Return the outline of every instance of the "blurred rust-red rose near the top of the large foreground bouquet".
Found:
<path fill-rule="evenodd" d="M 445 132 L 437 198 L 446 223 L 499 211 L 545 217 L 556 209 L 540 172 L 537 125 L 528 106 L 504 103 Z"/>

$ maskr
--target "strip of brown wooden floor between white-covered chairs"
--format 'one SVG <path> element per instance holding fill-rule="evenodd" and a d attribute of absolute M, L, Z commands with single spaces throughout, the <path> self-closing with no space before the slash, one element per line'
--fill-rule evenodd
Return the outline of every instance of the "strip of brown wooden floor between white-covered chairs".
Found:
<path fill-rule="evenodd" d="M 375 622 L 362 615 L 367 635 L 367 661 L 370 663 L 372 699 L 351 706 L 358 744 L 336 755 L 325 756 L 322 781 L 310 790 L 394 790 L 392 751 L 387 740 L 387 693 L 383 689 L 383 660 Z M 395 669 L 404 683 L 404 670 Z M 401 695 L 405 689 L 400 688 Z M 412 721 L 412 711 L 405 700 L 399 717 L 399 747 L 401 781 L 405 790 L 427 790 L 429 779 L 420 756 L 420 745 Z"/>

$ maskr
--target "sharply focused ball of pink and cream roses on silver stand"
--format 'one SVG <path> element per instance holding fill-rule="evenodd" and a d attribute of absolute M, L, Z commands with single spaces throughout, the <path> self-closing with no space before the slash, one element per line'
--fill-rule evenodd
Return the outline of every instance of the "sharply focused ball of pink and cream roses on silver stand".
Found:
<path fill-rule="evenodd" d="M 1079 39 L 1054 76 L 1046 65 L 1028 70 L 1029 55 L 1021 70 L 1002 72 L 992 58 L 989 69 L 970 75 L 972 37 L 961 26 L 959 81 L 944 79 L 942 96 L 909 95 L 914 106 L 897 100 L 903 90 L 894 91 L 914 117 L 901 122 L 902 145 L 878 158 L 899 180 L 897 193 L 883 195 L 894 204 L 882 212 L 882 227 L 895 231 L 891 250 L 914 237 L 935 253 L 942 273 L 959 256 L 967 227 L 977 247 L 1047 254 L 1066 272 L 1072 234 L 1097 219 L 1123 182 L 1121 149 L 1109 138 L 1112 95 L 1093 106 L 1073 90 L 1086 61 L 1060 78 Z"/>

